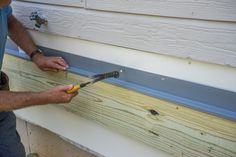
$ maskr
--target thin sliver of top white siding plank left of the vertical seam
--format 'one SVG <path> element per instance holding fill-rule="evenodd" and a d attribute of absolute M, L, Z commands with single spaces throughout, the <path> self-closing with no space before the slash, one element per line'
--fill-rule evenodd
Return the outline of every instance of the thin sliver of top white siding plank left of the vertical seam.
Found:
<path fill-rule="evenodd" d="M 16 1 L 26 1 L 35 3 L 46 3 L 73 7 L 84 7 L 85 0 L 16 0 Z"/>

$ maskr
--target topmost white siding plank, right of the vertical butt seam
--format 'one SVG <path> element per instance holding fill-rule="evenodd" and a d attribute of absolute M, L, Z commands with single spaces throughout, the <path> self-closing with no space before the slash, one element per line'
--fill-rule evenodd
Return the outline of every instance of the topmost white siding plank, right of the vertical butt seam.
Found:
<path fill-rule="evenodd" d="M 86 6 L 106 11 L 236 21 L 235 0 L 86 0 Z"/>

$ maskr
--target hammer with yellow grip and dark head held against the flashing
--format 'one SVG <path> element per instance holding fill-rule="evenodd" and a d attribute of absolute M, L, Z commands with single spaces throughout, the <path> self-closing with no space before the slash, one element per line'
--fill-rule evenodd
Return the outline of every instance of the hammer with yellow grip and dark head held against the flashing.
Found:
<path fill-rule="evenodd" d="M 118 78 L 119 76 L 120 76 L 120 74 L 118 71 L 112 71 L 112 72 L 108 72 L 108 73 L 93 75 L 90 77 L 93 80 L 74 85 L 72 89 L 67 91 L 67 93 L 71 94 L 71 93 L 77 92 L 80 88 L 83 88 L 89 84 L 94 84 L 95 82 L 98 82 L 98 81 L 101 81 L 101 80 L 104 80 L 107 78 L 111 78 L 111 77 Z"/>

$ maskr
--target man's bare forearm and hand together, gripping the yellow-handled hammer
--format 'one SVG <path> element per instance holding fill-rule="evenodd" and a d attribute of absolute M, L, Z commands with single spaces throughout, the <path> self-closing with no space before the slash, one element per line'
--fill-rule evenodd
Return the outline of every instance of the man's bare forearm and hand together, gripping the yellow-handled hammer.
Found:
<path fill-rule="evenodd" d="M 57 86 L 45 92 L 11 92 L 0 91 L 0 112 L 12 111 L 34 105 L 68 103 L 78 93 L 68 94 L 66 91 L 73 85 Z"/>

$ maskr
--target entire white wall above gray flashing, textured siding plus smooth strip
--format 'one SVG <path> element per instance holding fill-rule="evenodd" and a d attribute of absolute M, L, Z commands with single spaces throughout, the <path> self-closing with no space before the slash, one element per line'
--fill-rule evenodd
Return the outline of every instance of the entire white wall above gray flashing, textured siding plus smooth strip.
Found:
<path fill-rule="evenodd" d="M 33 2 L 15 1 L 12 7 L 26 27 L 42 32 L 31 31 L 38 45 L 236 91 L 235 12 L 230 9 L 234 8 L 234 1 Z M 70 7 L 74 3 L 78 4 Z M 132 5 L 135 7 L 129 7 Z M 164 14 L 150 7 L 159 5 L 175 12 L 165 16 L 171 12 L 163 9 Z M 186 13 L 190 6 L 198 18 Z M 208 13 L 203 11 L 209 7 Z M 36 28 L 35 22 L 29 20 L 33 11 L 46 17 L 48 26 Z M 185 16 L 178 16 L 177 12 Z M 207 15 L 211 15 L 210 19 Z"/>

